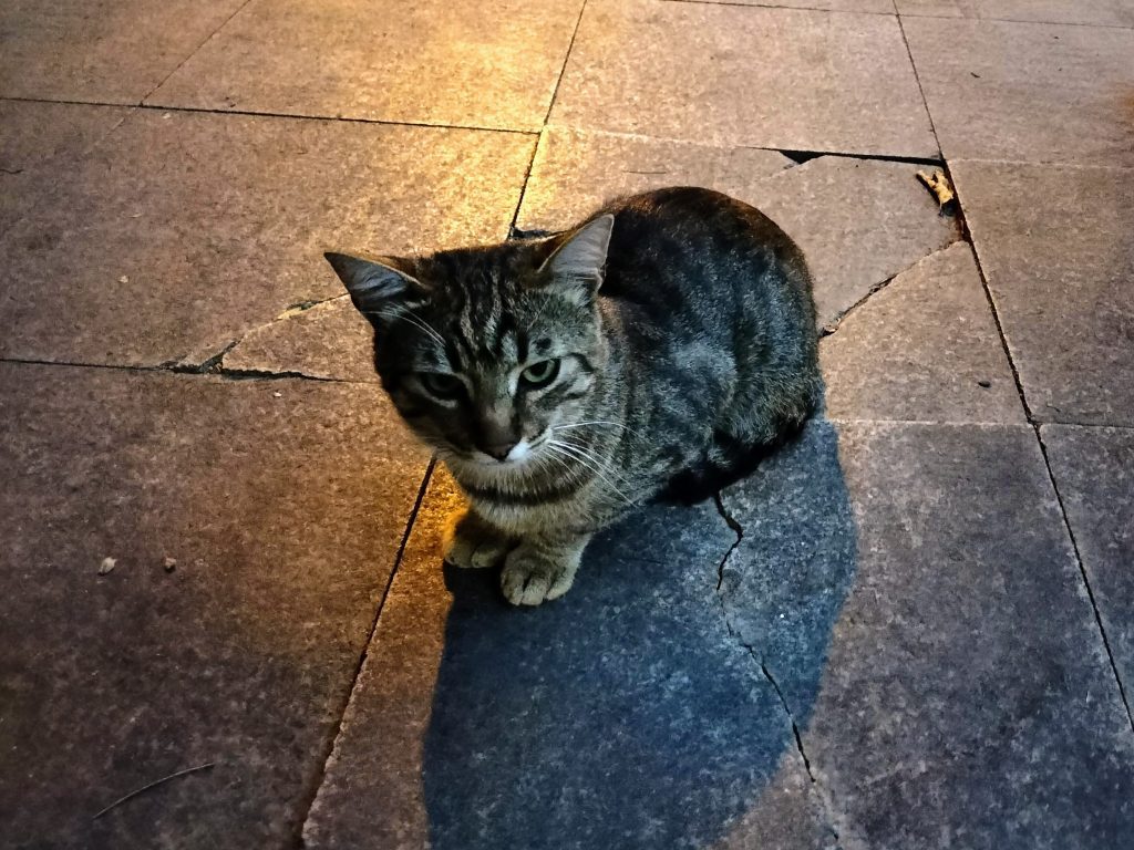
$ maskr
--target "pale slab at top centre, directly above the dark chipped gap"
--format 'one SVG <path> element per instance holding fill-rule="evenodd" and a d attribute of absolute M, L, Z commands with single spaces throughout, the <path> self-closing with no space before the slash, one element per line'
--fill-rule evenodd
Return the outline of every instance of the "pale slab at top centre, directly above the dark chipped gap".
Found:
<path fill-rule="evenodd" d="M 591 0 L 556 124 L 713 144 L 933 156 L 897 19 Z"/>

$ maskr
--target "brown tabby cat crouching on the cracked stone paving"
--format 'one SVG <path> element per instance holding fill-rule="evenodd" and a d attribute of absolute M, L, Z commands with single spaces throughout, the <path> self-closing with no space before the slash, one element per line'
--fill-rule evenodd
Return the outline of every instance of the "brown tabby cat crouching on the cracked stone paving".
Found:
<path fill-rule="evenodd" d="M 711 494 L 820 400 L 804 256 L 717 192 L 624 197 L 500 245 L 325 256 L 393 405 L 468 498 L 446 560 L 502 564 L 513 604 L 561 596 L 596 530 Z"/>

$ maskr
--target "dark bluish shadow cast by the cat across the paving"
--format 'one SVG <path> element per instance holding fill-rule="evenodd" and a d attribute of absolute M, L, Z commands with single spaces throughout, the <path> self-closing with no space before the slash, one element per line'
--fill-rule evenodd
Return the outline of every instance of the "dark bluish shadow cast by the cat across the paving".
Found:
<path fill-rule="evenodd" d="M 711 502 L 604 533 L 575 587 L 538 609 L 503 603 L 491 572 L 446 568 L 423 760 L 434 850 L 705 847 L 759 805 L 794 739 L 742 638 L 775 654 L 805 723 L 854 573 L 835 430 L 813 423 L 734 491 L 752 527 L 725 604 L 737 535 Z M 772 551 L 752 545 L 762 528 Z"/>

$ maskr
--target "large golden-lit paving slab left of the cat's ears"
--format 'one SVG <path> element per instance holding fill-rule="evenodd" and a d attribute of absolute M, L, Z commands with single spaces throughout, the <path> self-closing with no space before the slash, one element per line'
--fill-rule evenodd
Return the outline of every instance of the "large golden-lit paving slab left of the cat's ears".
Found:
<path fill-rule="evenodd" d="M 503 238 L 533 145 L 141 110 L 0 238 L 0 355 L 200 363 L 289 306 L 341 294 L 327 249 Z"/>

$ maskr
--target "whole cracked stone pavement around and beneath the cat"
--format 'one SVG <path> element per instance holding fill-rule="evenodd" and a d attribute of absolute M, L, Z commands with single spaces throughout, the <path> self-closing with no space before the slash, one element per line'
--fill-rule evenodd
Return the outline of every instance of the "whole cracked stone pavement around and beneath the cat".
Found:
<path fill-rule="evenodd" d="M 0 848 L 1134 847 L 1132 57 L 1131 0 L 0 3 Z M 674 184 L 805 248 L 826 416 L 510 609 L 321 253 Z"/>

